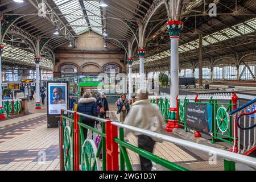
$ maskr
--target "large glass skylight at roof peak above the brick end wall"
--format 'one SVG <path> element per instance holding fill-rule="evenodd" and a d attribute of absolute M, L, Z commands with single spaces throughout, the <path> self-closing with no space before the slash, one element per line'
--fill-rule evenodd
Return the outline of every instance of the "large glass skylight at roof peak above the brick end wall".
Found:
<path fill-rule="evenodd" d="M 53 0 L 58 6 L 61 13 L 67 19 L 69 25 L 73 28 L 76 35 L 80 35 L 90 28 L 97 34 L 102 35 L 101 9 L 98 1 L 82 1 L 84 11 L 79 1 L 70 0 Z M 86 18 L 88 19 L 86 20 Z"/>

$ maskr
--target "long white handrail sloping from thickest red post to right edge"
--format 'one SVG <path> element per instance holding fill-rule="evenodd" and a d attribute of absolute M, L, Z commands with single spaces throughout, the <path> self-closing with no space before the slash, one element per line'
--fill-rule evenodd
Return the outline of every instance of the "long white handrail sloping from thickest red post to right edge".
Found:
<path fill-rule="evenodd" d="M 189 148 L 193 148 L 193 149 L 204 151 L 204 152 L 211 152 L 212 154 L 219 155 L 224 159 L 229 159 L 229 160 L 232 160 L 234 162 L 240 162 L 240 163 L 243 163 L 243 164 L 247 164 L 249 166 L 256 167 L 256 159 L 252 158 L 252 157 L 249 157 L 249 156 L 232 153 L 232 152 L 221 150 L 221 149 L 214 148 L 214 147 L 205 146 L 205 145 L 199 144 L 199 143 L 189 142 L 187 140 L 178 139 L 178 138 L 175 138 L 175 137 L 170 137 L 170 136 L 167 136 L 167 135 L 155 133 L 155 132 L 144 130 L 144 129 L 139 129 L 138 127 L 125 125 L 125 124 L 122 124 L 122 123 L 119 123 L 119 122 L 111 122 L 111 123 L 115 126 L 118 126 L 118 127 L 123 127 L 125 129 L 131 130 L 131 131 L 137 131 L 138 133 L 147 135 L 148 137 L 154 137 L 154 138 L 162 139 L 162 140 L 165 140 L 165 141 L 168 141 L 168 142 L 178 144 L 178 145 L 183 146 L 183 147 L 189 147 Z"/>

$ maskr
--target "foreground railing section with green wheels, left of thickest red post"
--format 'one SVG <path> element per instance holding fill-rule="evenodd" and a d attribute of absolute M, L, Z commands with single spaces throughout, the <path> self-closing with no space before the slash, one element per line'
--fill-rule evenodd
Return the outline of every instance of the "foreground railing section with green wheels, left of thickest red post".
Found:
<path fill-rule="evenodd" d="M 66 114 L 65 114 L 66 112 Z M 82 123 L 82 117 L 95 119 L 101 122 L 101 131 Z M 101 171 L 106 170 L 106 119 L 92 117 L 75 111 L 62 110 L 60 121 L 61 163 L 63 171 Z M 90 138 L 84 138 L 84 130 L 100 136 L 98 147 Z M 88 133 L 89 133 L 88 132 Z M 88 135 L 89 137 L 89 135 Z M 102 151 L 102 167 L 100 154 Z"/>

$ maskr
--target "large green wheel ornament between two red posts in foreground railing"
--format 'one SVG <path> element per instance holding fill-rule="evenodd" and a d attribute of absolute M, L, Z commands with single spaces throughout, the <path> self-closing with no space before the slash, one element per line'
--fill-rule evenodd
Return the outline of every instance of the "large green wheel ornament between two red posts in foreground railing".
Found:
<path fill-rule="evenodd" d="M 97 147 L 92 139 L 86 139 L 82 144 L 81 171 L 101 171 L 100 158 L 96 157 Z"/>

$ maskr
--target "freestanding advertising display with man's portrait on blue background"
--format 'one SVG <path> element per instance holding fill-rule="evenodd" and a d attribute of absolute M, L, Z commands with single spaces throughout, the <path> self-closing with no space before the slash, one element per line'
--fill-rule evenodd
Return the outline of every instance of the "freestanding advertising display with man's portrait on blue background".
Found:
<path fill-rule="evenodd" d="M 47 127 L 58 127 L 61 109 L 68 109 L 68 82 L 47 82 Z"/>

